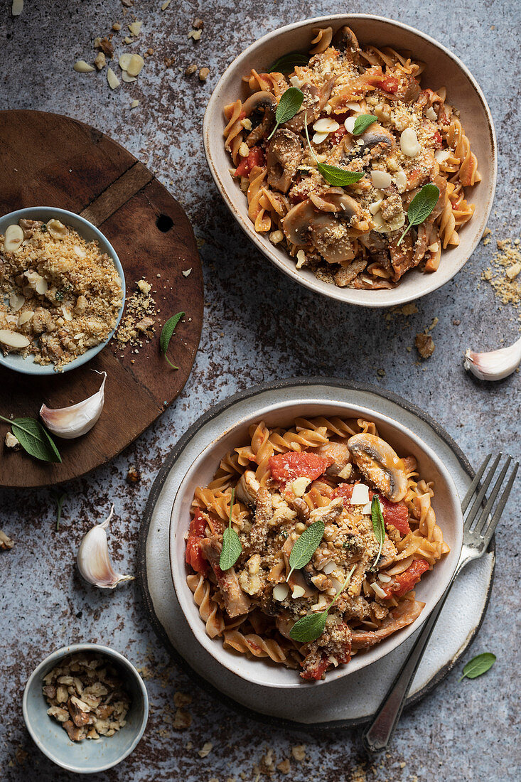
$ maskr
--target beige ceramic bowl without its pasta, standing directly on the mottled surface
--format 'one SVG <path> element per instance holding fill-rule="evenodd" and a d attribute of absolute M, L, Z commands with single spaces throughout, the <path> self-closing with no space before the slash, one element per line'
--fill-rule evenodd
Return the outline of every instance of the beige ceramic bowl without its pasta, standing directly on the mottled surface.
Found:
<path fill-rule="evenodd" d="M 361 45 L 391 47 L 411 52 L 411 57 L 425 63 L 422 88 L 447 88 L 447 103 L 459 109 L 462 125 L 476 155 L 481 175 L 479 184 L 465 188 L 469 203 L 476 207 L 472 219 L 458 228 L 459 245 L 442 250 L 437 271 L 408 271 L 392 289 L 340 288 L 315 277 L 305 267 L 296 269 L 296 261 L 283 247 L 275 246 L 267 233 L 257 233 L 248 216 L 248 203 L 239 182 L 232 178 L 231 157 L 225 149 L 223 109 L 238 98 L 245 101 L 250 91 L 243 77 L 252 69 L 265 72 L 271 63 L 289 52 L 308 52 L 315 27 L 343 25 L 354 30 Z M 452 52 L 428 35 L 405 24 L 380 16 L 345 14 L 322 16 L 281 27 L 264 35 L 236 57 L 217 83 L 203 122 L 203 142 L 210 172 L 226 206 L 257 249 L 295 282 L 323 296 L 361 307 L 390 307 L 419 299 L 444 285 L 457 274 L 472 255 L 487 220 L 494 199 L 497 178 L 497 155 L 494 123 L 490 109 L 472 74 Z"/>

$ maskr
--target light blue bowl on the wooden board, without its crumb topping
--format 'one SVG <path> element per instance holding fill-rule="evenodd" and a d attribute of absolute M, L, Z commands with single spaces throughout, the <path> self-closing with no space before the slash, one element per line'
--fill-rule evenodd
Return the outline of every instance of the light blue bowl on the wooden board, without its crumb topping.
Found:
<path fill-rule="evenodd" d="M 68 372 L 70 369 L 81 367 L 81 364 L 86 364 L 87 361 L 90 361 L 93 357 L 95 357 L 96 353 L 99 353 L 99 351 L 110 342 L 110 339 L 112 339 L 113 334 L 120 323 L 125 303 L 125 277 L 123 273 L 123 267 L 121 267 L 120 259 L 117 257 L 116 250 L 110 244 L 109 240 L 102 235 L 102 232 L 99 231 L 95 225 L 89 223 L 89 221 L 85 220 L 84 217 L 80 217 L 79 214 L 68 212 L 66 209 L 58 209 L 56 206 L 30 206 L 27 209 L 19 209 L 16 212 L 10 212 L 9 214 L 5 214 L 4 217 L 0 217 L 0 234 L 5 233 L 5 228 L 7 228 L 8 225 L 17 223 L 22 217 L 26 220 L 43 220 L 44 222 L 48 222 L 49 220 L 52 220 L 52 217 L 54 217 L 55 219 L 61 221 L 64 225 L 70 225 L 71 228 L 74 228 L 74 230 L 77 231 L 78 234 L 88 242 L 92 242 L 92 240 L 95 239 L 95 241 L 98 242 L 102 253 L 106 253 L 112 258 L 114 266 L 117 268 L 117 273 L 120 275 L 123 298 L 121 300 L 121 308 L 117 316 L 116 325 L 110 332 L 110 335 L 107 337 L 105 342 L 99 343 L 99 345 L 89 348 L 84 353 L 82 353 L 81 356 L 75 358 L 74 361 L 70 361 L 68 364 L 65 364 L 60 372 L 56 372 L 54 364 L 45 364 L 45 366 L 41 366 L 41 364 L 34 364 L 33 358 L 31 356 L 23 358 L 16 353 L 8 353 L 7 356 L 4 356 L 0 350 L 0 364 L 2 364 L 4 367 L 13 369 L 16 372 L 22 372 L 24 375 L 59 375 L 62 371 Z"/>

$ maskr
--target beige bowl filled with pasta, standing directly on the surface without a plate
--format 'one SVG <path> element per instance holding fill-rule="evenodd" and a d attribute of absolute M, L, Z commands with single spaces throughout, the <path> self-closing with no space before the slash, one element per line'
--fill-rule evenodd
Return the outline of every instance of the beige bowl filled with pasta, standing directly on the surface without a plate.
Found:
<path fill-rule="evenodd" d="M 203 140 L 219 192 L 264 256 L 365 307 L 450 280 L 494 198 L 494 124 L 472 74 L 379 16 L 264 35 L 218 82 Z"/>

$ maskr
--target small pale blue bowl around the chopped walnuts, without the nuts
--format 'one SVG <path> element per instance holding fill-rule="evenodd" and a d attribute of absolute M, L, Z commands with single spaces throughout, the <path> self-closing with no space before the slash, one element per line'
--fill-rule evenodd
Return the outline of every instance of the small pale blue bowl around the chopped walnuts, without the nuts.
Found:
<path fill-rule="evenodd" d="M 49 705 L 43 694 L 43 678 L 68 655 L 91 651 L 109 657 L 121 670 L 131 696 L 127 724 L 110 737 L 70 741 L 60 723 L 47 713 Z M 116 766 L 138 745 L 149 717 L 149 698 L 141 676 L 118 651 L 99 644 L 72 644 L 52 652 L 38 665 L 23 692 L 23 719 L 31 738 L 44 755 L 57 766 L 77 774 L 93 774 Z"/>

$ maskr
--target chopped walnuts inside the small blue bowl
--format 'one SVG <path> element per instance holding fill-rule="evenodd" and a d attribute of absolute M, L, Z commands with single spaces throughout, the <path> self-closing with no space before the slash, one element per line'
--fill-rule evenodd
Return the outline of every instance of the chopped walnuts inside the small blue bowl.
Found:
<path fill-rule="evenodd" d="M 47 713 L 71 741 L 113 736 L 126 725 L 130 698 L 118 669 L 102 655 L 80 652 L 60 660 L 42 689 Z"/>

